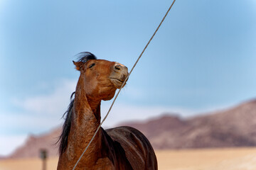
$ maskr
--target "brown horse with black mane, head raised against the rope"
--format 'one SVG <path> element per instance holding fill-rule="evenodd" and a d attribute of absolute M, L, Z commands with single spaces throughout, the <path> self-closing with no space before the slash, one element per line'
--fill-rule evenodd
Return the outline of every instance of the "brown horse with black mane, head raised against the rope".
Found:
<path fill-rule="evenodd" d="M 128 75 L 124 65 L 97 60 L 90 52 L 80 53 L 74 64 L 80 77 L 65 113 L 58 170 L 73 169 L 100 125 L 101 101 L 113 98 Z M 101 128 L 76 169 L 157 169 L 157 161 L 149 140 L 139 130 Z"/>

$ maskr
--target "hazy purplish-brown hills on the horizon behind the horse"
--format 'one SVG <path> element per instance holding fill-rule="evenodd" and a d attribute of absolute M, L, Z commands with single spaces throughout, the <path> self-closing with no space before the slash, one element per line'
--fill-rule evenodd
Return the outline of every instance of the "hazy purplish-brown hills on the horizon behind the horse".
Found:
<path fill-rule="evenodd" d="M 148 137 L 154 149 L 256 146 L 256 100 L 225 111 L 181 119 L 164 115 L 146 122 L 122 123 L 137 128 Z M 44 135 L 28 137 L 25 145 L 11 154 L 13 158 L 38 157 L 46 148 L 56 156 L 55 142 L 61 128 Z"/>

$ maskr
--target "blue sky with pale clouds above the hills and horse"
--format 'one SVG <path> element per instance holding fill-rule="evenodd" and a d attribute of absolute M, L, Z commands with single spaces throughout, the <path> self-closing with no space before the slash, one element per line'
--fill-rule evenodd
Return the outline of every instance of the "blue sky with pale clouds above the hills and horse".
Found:
<path fill-rule="evenodd" d="M 0 0 L 0 154 L 62 123 L 76 54 L 131 69 L 170 4 Z M 255 76 L 254 0 L 177 0 L 105 126 L 235 106 L 255 98 Z"/>

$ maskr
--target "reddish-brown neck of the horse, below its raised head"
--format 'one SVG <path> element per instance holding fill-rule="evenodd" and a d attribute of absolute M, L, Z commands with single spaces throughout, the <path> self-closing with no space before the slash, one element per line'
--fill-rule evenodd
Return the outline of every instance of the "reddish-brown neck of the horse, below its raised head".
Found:
<path fill-rule="evenodd" d="M 73 155 L 77 160 L 87 147 L 88 143 L 95 134 L 98 126 L 100 125 L 100 101 L 93 101 L 87 99 L 83 84 L 85 79 L 78 80 L 78 85 L 75 91 L 74 101 L 74 119 L 70 128 L 70 135 L 68 137 L 68 154 Z M 91 164 L 97 161 L 100 157 L 101 150 L 101 136 L 102 132 L 99 130 L 92 144 L 88 147 L 80 164 Z M 73 153 L 71 153 L 73 152 Z M 71 159 L 73 159 L 71 158 Z"/>

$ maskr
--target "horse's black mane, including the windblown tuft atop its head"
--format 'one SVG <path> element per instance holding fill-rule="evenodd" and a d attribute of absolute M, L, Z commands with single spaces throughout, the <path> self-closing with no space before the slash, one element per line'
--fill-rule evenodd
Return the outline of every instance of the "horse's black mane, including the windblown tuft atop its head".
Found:
<path fill-rule="evenodd" d="M 80 52 L 78 55 L 78 62 L 87 62 L 88 60 L 97 60 L 97 57 L 93 55 L 90 52 Z M 65 152 L 65 149 L 68 147 L 68 135 L 70 133 L 70 128 L 71 128 L 71 123 L 73 120 L 73 106 L 74 106 L 74 100 L 72 99 L 73 96 L 75 95 L 75 92 L 71 94 L 70 96 L 70 104 L 68 106 L 68 110 L 65 111 L 63 114 L 63 117 L 65 119 L 64 124 L 63 124 L 63 131 L 61 132 L 61 135 L 58 139 L 58 142 L 60 142 L 59 146 L 59 154 L 63 154 Z M 58 143 L 57 142 L 57 143 Z"/>

